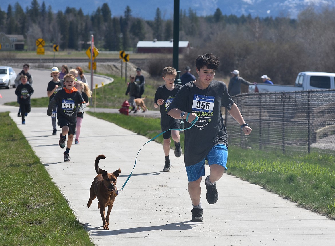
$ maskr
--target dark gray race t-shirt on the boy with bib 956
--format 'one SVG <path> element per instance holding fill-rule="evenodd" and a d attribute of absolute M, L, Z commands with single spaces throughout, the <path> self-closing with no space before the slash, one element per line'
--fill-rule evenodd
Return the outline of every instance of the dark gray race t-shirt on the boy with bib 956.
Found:
<path fill-rule="evenodd" d="M 217 144 L 228 146 L 221 107 L 230 110 L 233 103 L 226 85 L 221 81 L 213 80 L 204 90 L 196 87 L 193 82 L 179 89 L 167 112 L 178 108 L 193 112 L 199 117 L 194 126 L 185 131 L 185 166 L 201 161 Z M 185 128 L 191 126 L 186 120 L 184 124 Z"/>

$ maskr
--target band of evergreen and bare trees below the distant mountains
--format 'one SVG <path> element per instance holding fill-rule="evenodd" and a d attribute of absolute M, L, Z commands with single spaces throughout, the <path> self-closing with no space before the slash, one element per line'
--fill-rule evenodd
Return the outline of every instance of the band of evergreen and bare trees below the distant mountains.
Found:
<path fill-rule="evenodd" d="M 211 52 L 220 57 L 220 73 L 238 69 L 251 82 L 261 82 L 258 78 L 267 74 L 275 84 L 292 84 L 302 71 L 334 73 L 334 16 L 334 8 L 308 8 L 297 19 L 223 15 L 219 8 L 209 16 L 181 10 L 179 40 L 191 46 L 184 63 L 194 67 L 197 55 Z M 173 19 L 163 18 L 159 8 L 154 20 L 133 17 L 131 6 L 123 16 L 113 16 L 107 3 L 91 15 L 69 7 L 55 13 L 45 2 L 32 0 L 25 10 L 18 2 L 0 9 L 0 31 L 24 35 L 27 50 L 36 48 L 39 37 L 63 50 L 83 50 L 93 34 L 99 50 L 136 51 L 139 40 L 171 40 Z"/>

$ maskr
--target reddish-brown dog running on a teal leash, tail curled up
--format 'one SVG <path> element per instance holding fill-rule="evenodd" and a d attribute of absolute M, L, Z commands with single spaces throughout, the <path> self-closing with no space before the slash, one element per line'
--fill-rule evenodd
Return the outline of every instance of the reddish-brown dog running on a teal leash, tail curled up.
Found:
<path fill-rule="evenodd" d="M 117 196 L 116 179 L 121 173 L 121 169 L 115 172 L 107 172 L 99 168 L 99 160 L 105 159 L 104 155 L 98 155 L 95 158 L 95 171 L 98 175 L 95 176 L 91 189 L 89 191 L 89 200 L 87 207 L 90 207 L 92 200 L 98 198 L 98 208 L 100 209 L 101 218 L 103 219 L 103 230 L 108 230 L 109 227 L 109 215 L 113 208 L 113 203 Z M 108 206 L 107 215 L 105 217 L 105 208 Z"/>

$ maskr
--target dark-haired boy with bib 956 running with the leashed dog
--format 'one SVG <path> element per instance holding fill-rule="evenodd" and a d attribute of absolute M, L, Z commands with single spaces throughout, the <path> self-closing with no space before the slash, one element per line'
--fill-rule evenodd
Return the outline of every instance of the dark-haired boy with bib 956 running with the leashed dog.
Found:
<path fill-rule="evenodd" d="M 185 166 L 188 177 L 188 191 L 192 201 L 192 221 L 201 222 L 201 179 L 205 175 L 207 159 L 210 173 L 205 179 L 206 199 L 209 204 L 217 202 L 218 193 L 215 182 L 226 170 L 228 141 L 227 131 L 223 124 L 221 107 L 241 125 L 241 129 L 249 135 L 251 128 L 245 123 L 237 105 L 228 94 L 226 85 L 214 79 L 219 67 L 218 57 L 208 53 L 199 55 L 195 62 L 198 79 L 185 84 L 167 109 L 167 114 L 175 119 L 183 119 L 185 128 Z"/>

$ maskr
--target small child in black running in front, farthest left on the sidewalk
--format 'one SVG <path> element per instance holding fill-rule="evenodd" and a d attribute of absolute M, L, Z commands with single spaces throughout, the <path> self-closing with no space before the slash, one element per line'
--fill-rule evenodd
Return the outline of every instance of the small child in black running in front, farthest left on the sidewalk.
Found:
<path fill-rule="evenodd" d="M 25 118 L 30 112 L 30 96 L 34 93 L 31 85 L 27 83 L 28 77 L 24 74 L 21 75 L 21 84 L 16 87 L 15 94 L 19 98 L 20 109 L 22 113 L 22 125 L 25 125 Z"/>

